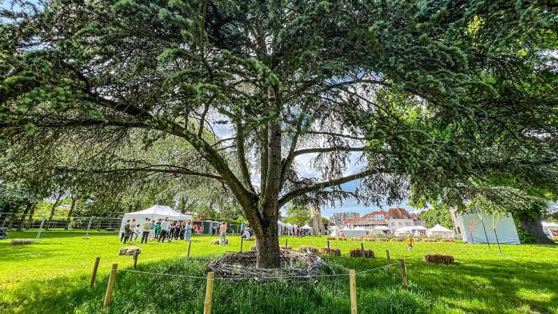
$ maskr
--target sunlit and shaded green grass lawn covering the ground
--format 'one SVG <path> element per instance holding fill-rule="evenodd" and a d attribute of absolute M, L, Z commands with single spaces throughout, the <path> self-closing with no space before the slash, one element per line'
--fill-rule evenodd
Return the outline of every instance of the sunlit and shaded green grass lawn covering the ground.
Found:
<path fill-rule="evenodd" d="M 10 238 L 34 238 L 34 232 L 10 232 Z M 112 236 L 112 237 L 111 237 Z M 50 232 L 31 246 L 8 246 L 0 241 L 0 308 L 3 313 L 202 313 L 205 280 L 120 271 L 112 306 L 103 311 L 103 299 L 112 263 L 130 269 L 129 256 L 117 256 L 122 244 L 107 232 Z M 48 238 L 48 239 L 47 239 Z M 213 237 L 193 237 L 191 257 L 184 241 L 138 245 L 144 249 L 138 270 L 153 273 L 206 276 L 207 264 L 225 251 L 239 251 L 239 237 L 229 237 L 227 247 L 209 245 Z M 326 246 L 317 237 L 288 239 L 300 245 Z M 244 250 L 250 244 L 245 242 Z M 357 276 L 359 313 L 558 313 L 558 246 L 497 246 L 454 243 L 418 243 L 413 252 L 402 242 L 364 242 L 377 258 L 363 261 L 347 257 L 357 241 L 331 241 L 342 257 L 326 257 L 336 274 L 349 269 L 364 271 L 404 258 L 409 287 L 401 285 L 395 271 L 370 271 Z M 426 253 L 447 253 L 457 264 L 423 262 Z M 98 279 L 90 289 L 95 257 L 101 257 Z M 328 274 L 324 271 L 324 274 Z M 348 313 L 347 276 L 319 281 L 216 281 L 214 313 Z"/>

